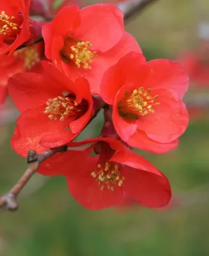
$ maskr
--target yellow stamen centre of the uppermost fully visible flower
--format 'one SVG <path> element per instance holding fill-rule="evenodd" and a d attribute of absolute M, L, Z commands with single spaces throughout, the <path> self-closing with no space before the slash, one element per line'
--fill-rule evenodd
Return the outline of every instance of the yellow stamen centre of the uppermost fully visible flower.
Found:
<path fill-rule="evenodd" d="M 92 44 L 88 41 L 79 41 L 76 45 L 72 45 L 72 39 L 68 38 L 68 40 L 65 40 L 65 46 L 61 50 L 61 55 L 64 61 L 69 62 L 72 60 L 78 68 L 92 69 L 89 64 L 93 63 L 96 52 L 92 51 L 91 47 Z"/>

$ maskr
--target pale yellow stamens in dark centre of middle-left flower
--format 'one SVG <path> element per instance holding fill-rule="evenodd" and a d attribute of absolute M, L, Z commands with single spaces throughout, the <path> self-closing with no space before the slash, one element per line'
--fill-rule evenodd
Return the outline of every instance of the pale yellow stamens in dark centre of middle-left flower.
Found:
<path fill-rule="evenodd" d="M 48 99 L 46 102 L 45 114 L 49 114 L 51 120 L 63 121 L 65 118 L 80 118 L 87 111 L 87 102 L 82 100 L 80 104 L 75 101 L 75 97 L 61 97 Z"/>

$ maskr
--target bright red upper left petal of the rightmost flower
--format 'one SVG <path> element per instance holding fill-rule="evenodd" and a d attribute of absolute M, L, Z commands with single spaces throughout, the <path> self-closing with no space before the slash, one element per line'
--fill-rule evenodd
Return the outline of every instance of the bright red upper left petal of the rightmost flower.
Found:
<path fill-rule="evenodd" d="M 132 49 L 130 49 L 132 50 Z M 136 48 L 134 49 L 136 50 Z M 124 56 L 124 55 L 123 55 Z M 111 66 L 102 78 L 100 93 L 102 99 L 108 104 L 114 104 L 116 93 L 123 85 L 132 83 L 132 80 L 127 80 L 127 75 L 141 63 L 146 62 L 145 57 L 139 52 L 130 52 L 122 57 L 117 64 Z M 141 80 L 144 79 L 146 73 L 141 73 L 141 78 L 137 81 L 137 85 L 141 86 Z"/>

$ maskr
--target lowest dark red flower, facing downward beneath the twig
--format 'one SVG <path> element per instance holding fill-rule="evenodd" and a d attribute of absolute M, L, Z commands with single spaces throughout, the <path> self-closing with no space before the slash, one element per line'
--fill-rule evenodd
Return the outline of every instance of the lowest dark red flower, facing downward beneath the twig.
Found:
<path fill-rule="evenodd" d="M 166 206 L 169 180 L 153 164 L 114 138 L 90 138 L 69 146 L 93 145 L 54 155 L 39 173 L 67 176 L 68 188 L 82 206 L 102 209 L 121 204 L 124 192 L 142 206 Z M 96 152 L 97 155 L 90 155 Z"/>

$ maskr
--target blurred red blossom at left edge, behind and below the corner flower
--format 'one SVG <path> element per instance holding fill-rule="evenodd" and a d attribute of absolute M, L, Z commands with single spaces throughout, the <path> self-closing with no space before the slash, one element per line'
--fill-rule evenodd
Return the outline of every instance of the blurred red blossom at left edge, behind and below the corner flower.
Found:
<path fill-rule="evenodd" d="M 41 69 L 40 59 L 43 56 L 44 43 L 39 42 L 0 57 L 0 104 L 7 96 L 8 78 L 23 71 L 38 72 Z"/>

